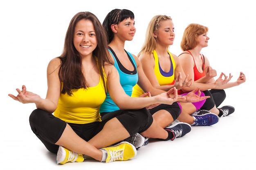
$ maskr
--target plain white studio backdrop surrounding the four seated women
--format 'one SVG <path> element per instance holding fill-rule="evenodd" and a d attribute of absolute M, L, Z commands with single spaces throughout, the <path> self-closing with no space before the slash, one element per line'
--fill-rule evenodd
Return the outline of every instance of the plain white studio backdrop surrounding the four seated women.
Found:
<path fill-rule="evenodd" d="M 235 113 L 209 127 L 193 127 L 175 141 L 150 142 L 129 161 L 56 164 L 29 126 L 34 104 L 21 104 L 8 94 L 17 94 L 23 84 L 28 91 L 45 97 L 48 62 L 59 55 L 67 26 L 80 11 L 94 13 L 101 22 L 112 9 L 129 9 L 135 14 L 135 38 L 125 49 L 137 55 L 148 22 L 154 15 L 169 15 L 175 26 L 175 42 L 170 51 L 181 52 L 185 27 L 198 23 L 209 27 L 209 46 L 202 53 L 211 66 L 236 81 L 240 71 L 247 82 L 226 90 L 224 105 Z M 255 5 L 251 0 L 169 0 L 169 1 L 29 1 L 0 2 L 0 169 L 177 169 L 252 170 L 256 169 L 255 142 Z"/>

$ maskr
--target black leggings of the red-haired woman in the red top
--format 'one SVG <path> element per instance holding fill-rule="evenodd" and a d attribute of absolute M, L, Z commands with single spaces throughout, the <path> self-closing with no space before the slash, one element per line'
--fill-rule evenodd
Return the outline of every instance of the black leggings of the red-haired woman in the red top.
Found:
<path fill-rule="evenodd" d="M 207 90 L 203 92 L 205 96 L 211 97 L 206 99 L 204 105 L 200 108 L 201 110 L 211 110 L 214 107 L 214 105 L 218 107 L 226 98 L 226 93 L 224 90 Z"/>

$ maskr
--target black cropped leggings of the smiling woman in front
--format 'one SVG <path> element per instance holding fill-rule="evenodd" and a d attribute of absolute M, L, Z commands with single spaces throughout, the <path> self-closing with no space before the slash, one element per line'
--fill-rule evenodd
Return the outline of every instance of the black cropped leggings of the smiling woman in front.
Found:
<path fill-rule="evenodd" d="M 130 135 L 136 132 L 144 132 L 153 122 L 152 115 L 146 108 L 142 108 L 139 110 L 118 110 L 116 116 L 113 115 L 100 122 L 68 124 L 79 137 L 88 141 L 97 135 L 103 129 L 106 122 L 113 117 L 116 117 L 121 122 Z M 55 145 L 55 143 L 60 139 L 67 123 L 41 109 L 36 109 L 31 113 L 29 123 L 31 130 L 43 142 L 45 147 L 50 152 L 57 153 L 58 145 Z"/>

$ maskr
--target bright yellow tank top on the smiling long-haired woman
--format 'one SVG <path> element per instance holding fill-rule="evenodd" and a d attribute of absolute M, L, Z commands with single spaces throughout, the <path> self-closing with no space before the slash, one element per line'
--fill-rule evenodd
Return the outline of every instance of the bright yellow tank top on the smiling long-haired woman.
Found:
<path fill-rule="evenodd" d="M 106 77 L 106 76 L 104 76 Z M 106 82 L 106 78 L 104 78 Z M 63 84 L 61 84 L 61 89 Z M 106 99 L 103 81 L 94 87 L 73 89 L 72 95 L 61 94 L 54 116 L 74 124 L 88 124 L 101 121 L 99 108 Z"/>

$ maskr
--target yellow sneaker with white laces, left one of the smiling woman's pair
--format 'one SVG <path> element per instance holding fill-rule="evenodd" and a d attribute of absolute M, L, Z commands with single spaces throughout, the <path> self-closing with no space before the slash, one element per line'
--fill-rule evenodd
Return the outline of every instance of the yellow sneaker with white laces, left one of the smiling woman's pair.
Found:
<path fill-rule="evenodd" d="M 72 152 L 62 146 L 58 147 L 57 163 L 64 164 L 67 162 L 83 162 L 84 158 L 82 154 Z"/>

